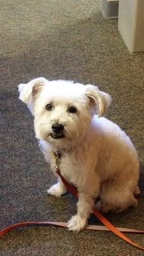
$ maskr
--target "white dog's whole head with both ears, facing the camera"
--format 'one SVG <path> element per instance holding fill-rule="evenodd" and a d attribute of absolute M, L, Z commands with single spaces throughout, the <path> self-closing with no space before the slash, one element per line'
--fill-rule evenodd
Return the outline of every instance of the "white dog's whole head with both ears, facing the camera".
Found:
<path fill-rule="evenodd" d="M 56 148 L 76 144 L 88 131 L 93 115 L 104 115 L 111 102 L 97 86 L 40 77 L 19 84 L 19 99 L 35 117 L 36 138 Z"/>

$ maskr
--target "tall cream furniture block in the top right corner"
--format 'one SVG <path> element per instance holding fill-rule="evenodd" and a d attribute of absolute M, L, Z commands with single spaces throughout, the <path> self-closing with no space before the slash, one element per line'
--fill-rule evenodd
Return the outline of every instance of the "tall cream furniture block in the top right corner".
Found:
<path fill-rule="evenodd" d="M 130 52 L 144 51 L 144 0 L 119 0 L 118 30 Z"/>

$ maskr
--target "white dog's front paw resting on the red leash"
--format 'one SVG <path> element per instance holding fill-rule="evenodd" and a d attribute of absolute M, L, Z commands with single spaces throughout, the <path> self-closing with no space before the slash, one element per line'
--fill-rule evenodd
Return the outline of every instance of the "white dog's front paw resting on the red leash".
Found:
<path fill-rule="evenodd" d="M 83 230 L 86 223 L 87 220 L 85 218 L 81 218 L 81 216 L 76 214 L 68 221 L 68 230 L 79 232 L 80 230 Z"/>

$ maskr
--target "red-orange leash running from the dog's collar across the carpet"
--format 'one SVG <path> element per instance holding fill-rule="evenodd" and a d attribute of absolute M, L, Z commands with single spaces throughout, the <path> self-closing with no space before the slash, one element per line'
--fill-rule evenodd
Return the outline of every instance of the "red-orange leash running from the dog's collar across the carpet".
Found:
<path fill-rule="evenodd" d="M 60 170 L 56 170 L 56 173 L 60 176 L 63 184 L 65 184 L 67 190 L 74 195 L 76 198 L 78 198 L 78 193 L 77 190 L 67 182 L 63 178 L 63 176 L 60 173 Z M 131 244 L 132 246 L 139 248 L 140 250 L 144 250 L 143 246 L 140 246 L 139 244 L 136 244 L 131 241 L 128 237 L 126 237 L 122 232 L 127 232 L 127 233 L 134 233 L 134 234 L 144 234 L 144 230 L 134 230 L 134 229 L 129 229 L 129 228 L 116 228 L 111 224 L 95 207 L 93 207 L 93 214 L 95 215 L 96 218 L 98 218 L 106 227 L 103 226 L 94 226 L 94 225 L 89 225 L 86 227 L 88 230 L 99 230 L 99 231 L 111 231 L 113 232 L 116 236 L 120 237 L 127 243 Z M 11 230 L 18 228 L 18 227 L 24 227 L 24 226 L 32 226 L 32 225 L 49 225 L 49 226 L 57 226 L 57 227 L 67 227 L 67 223 L 62 223 L 62 222 L 52 222 L 52 221 L 28 221 L 28 222 L 22 222 L 22 223 L 16 223 L 10 227 L 6 227 L 3 230 L 0 231 L 0 237 L 3 237 L 6 233 L 10 232 Z"/>

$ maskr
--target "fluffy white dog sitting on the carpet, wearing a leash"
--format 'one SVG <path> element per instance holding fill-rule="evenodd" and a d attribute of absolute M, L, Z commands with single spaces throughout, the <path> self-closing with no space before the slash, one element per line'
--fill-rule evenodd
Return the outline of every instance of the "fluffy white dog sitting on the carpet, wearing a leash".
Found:
<path fill-rule="evenodd" d="M 19 92 L 34 115 L 36 138 L 52 171 L 56 163 L 51 153 L 58 152 L 61 174 L 79 192 L 69 230 L 84 228 L 98 196 L 96 206 L 102 212 L 137 204 L 138 156 L 125 132 L 101 117 L 111 102 L 108 93 L 90 84 L 43 77 L 20 84 Z M 58 179 L 47 192 L 59 197 L 65 191 Z"/>

